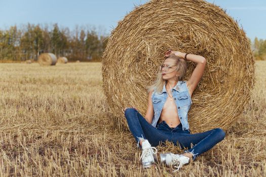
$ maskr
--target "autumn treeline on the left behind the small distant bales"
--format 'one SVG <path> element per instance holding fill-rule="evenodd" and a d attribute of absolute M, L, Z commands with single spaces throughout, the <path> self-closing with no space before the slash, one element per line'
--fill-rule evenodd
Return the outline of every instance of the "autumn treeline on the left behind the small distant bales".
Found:
<path fill-rule="evenodd" d="M 0 30 L 0 60 L 37 60 L 37 55 L 45 52 L 70 61 L 99 61 L 108 36 L 97 32 L 79 26 L 70 31 L 57 24 L 11 26 Z"/>

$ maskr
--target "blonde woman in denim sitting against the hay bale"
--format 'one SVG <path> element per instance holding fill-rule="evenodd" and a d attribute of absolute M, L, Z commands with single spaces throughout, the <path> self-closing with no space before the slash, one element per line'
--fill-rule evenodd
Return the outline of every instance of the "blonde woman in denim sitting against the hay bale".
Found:
<path fill-rule="evenodd" d="M 186 60 L 196 62 L 197 66 L 189 80 L 181 81 L 181 77 L 186 73 Z M 224 139 L 225 133 L 220 128 L 199 134 L 190 134 L 189 131 L 187 113 L 205 65 L 206 59 L 202 56 L 168 50 L 158 70 L 157 79 L 149 86 L 146 115 L 143 117 L 133 107 L 123 110 L 137 146 L 142 148 L 143 167 L 150 167 L 155 163 L 155 146 L 160 142 L 170 141 L 188 149 L 181 155 L 160 154 L 161 163 L 178 165 L 178 170 Z"/>

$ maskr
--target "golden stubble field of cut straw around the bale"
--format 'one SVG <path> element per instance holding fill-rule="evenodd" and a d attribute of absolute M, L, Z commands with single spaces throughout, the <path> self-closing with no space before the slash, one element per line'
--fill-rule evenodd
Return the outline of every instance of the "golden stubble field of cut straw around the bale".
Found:
<path fill-rule="evenodd" d="M 266 176 L 266 61 L 255 64 L 241 118 L 173 173 L 142 169 L 141 150 L 105 101 L 100 63 L 0 63 L 0 176 Z M 168 143 L 163 152 L 181 151 Z"/>

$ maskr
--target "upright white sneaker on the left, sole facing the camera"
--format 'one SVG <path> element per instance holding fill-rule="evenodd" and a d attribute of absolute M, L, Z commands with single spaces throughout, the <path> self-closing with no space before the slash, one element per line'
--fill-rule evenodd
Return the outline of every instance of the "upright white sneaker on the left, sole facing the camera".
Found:
<path fill-rule="evenodd" d="M 142 142 L 142 154 L 140 156 L 142 165 L 144 168 L 148 168 L 157 161 L 157 149 L 155 147 L 151 147 L 147 140 Z"/>

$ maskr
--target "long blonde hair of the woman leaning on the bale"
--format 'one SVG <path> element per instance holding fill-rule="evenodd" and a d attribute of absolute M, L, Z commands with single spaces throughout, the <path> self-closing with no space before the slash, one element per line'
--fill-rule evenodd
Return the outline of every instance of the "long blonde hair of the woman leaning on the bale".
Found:
<path fill-rule="evenodd" d="M 187 69 L 187 65 L 186 65 L 186 61 L 178 56 L 176 56 L 175 54 L 171 54 L 168 57 L 165 57 L 164 61 L 162 62 L 162 64 L 165 62 L 166 59 L 174 59 L 175 60 L 175 64 L 177 66 L 176 71 L 179 73 L 178 76 L 178 80 L 180 80 L 186 73 L 186 69 Z M 157 93 L 161 92 L 163 90 L 164 84 L 166 83 L 167 80 L 163 79 L 162 76 L 162 71 L 158 68 L 157 70 L 157 78 L 154 81 L 154 83 L 150 86 L 147 87 L 148 92 L 151 91 L 155 91 Z"/>

